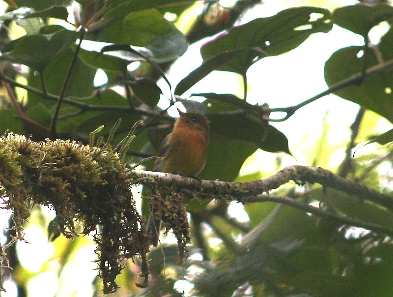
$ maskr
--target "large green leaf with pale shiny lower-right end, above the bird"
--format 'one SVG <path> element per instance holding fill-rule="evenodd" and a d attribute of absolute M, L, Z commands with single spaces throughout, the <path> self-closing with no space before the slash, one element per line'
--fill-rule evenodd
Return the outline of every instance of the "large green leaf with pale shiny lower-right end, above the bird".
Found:
<path fill-rule="evenodd" d="M 165 62 L 182 55 L 188 47 L 182 32 L 155 9 L 127 14 L 112 21 L 97 35 L 89 35 L 96 41 L 144 47 L 152 53 L 156 62 Z"/>

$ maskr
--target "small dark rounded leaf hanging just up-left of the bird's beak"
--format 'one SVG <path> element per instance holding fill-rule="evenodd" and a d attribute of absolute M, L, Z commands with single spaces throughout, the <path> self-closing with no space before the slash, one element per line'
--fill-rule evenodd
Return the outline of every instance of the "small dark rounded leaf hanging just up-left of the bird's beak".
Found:
<path fill-rule="evenodd" d="M 155 107 L 162 94 L 157 84 L 149 78 L 137 78 L 131 82 L 131 89 L 137 97 L 151 108 Z"/>

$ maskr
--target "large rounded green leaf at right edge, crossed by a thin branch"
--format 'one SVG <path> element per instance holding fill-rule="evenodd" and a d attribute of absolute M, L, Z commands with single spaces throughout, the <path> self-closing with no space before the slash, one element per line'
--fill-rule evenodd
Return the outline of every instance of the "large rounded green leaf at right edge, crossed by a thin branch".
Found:
<path fill-rule="evenodd" d="M 390 46 L 392 49 L 392 45 Z M 325 80 L 328 86 L 332 86 L 349 76 L 362 72 L 363 59 L 359 53 L 363 53 L 364 47 L 351 46 L 339 49 L 325 64 Z M 384 50 L 382 56 L 391 55 Z M 369 68 L 377 64 L 374 52 L 368 49 L 365 67 Z M 393 75 L 390 72 L 381 72 L 367 77 L 360 85 L 353 85 L 335 92 L 336 95 L 358 103 L 381 116 L 393 121 Z"/>

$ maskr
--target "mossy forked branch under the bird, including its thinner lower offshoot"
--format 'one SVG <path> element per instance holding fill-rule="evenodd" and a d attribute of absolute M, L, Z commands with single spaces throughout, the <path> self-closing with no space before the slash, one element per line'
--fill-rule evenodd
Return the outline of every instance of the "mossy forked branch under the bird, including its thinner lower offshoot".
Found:
<path fill-rule="evenodd" d="M 195 197 L 200 199 L 211 199 L 214 197 L 217 200 L 237 200 L 239 202 L 271 201 L 282 203 L 290 207 L 307 211 L 318 217 L 334 219 L 342 224 L 357 226 L 377 233 L 379 232 L 393 236 L 393 229 L 386 228 L 382 225 L 340 216 L 310 206 L 307 203 L 296 201 L 290 197 L 263 194 L 263 192 L 267 193 L 293 180 L 299 185 L 304 185 L 306 182 L 319 183 L 323 187 L 333 188 L 349 195 L 355 195 L 359 197 L 360 201 L 369 200 L 390 210 L 393 209 L 393 199 L 391 196 L 382 194 L 352 180 L 336 176 L 331 171 L 320 167 L 290 166 L 271 177 L 250 182 L 199 180 L 197 178 L 186 178 L 179 175 L 150 171 L 132 171 L 130 176 L 135 179 L 141 178 L 144 180 L 141 183 L 147 186 L 150 182 L 157 182 L 161 186 L 168 186 L 172 191 L 179 191 L 187 196 L 192 193 Z M 154 177 L 154 179 L 149 181 L 149 177 Z"/>

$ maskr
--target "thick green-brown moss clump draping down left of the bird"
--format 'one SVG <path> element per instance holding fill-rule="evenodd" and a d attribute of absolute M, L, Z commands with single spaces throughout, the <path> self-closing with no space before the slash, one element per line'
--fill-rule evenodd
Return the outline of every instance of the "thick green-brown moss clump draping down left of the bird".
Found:
<path fill-rule="evenodd" d="M 117 148 L 101 145 L 102 139 L 84 146 L 74 141 L 32 142 L 22 135 L 0 137 L 0 185 L 4 208 L 12 209 L 16 237 L 23 239 L 24 222 L 33 205 L 56 211 L 59 231 L 67 238 L 96 230 L 99 275 L 104 293 L 118 288 L 115 279 L 125 259 L 140 257 L 142 285 L 147 284 L 146 253 L 149 245 L 130 187 L 133 181 L 122 161 L 132 137 Z M 100 147 L 93 146 L 99 142 Z M 0 260 L 5 259 L 0 246 Z M 1 271 L 0 271 L 1 272 Z M 0 288 L 2 284 L 0 274 Z"/>

